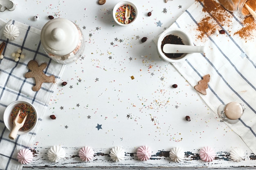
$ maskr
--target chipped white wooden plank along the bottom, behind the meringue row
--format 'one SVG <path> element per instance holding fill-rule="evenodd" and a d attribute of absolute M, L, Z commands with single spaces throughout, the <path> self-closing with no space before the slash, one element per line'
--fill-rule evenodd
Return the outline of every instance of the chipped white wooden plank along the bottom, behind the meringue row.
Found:
<path fill-rule="evenodd" d="M 199 150 L 184 152 L 184 161 L 182 162 L 171 161 L 169 151 L 166 150 L 153 153 L 148 161 L 138 160 L 136 152 L 126 152 L 123 161 L 113 162 L 109 155 L 110 149 L 106 151 L 106 149 L 94 148 L 93 160 L 83 162 L 78 155 L 80 148 L 63 147 L 63 149 L 66 152 L 65 159 L 54 163 L 48 160 L 47 152 L 49 148 L 34 148 L 33 162 L 23 166 L 23 168 L 256 168 L 256 156 L 249 152 L 246 153 L 245 160 L 240 162 L 231 160 L 230 153 L 223 150 L 218 151 L 215 160 L 209 163 L 200 160 Z"/>

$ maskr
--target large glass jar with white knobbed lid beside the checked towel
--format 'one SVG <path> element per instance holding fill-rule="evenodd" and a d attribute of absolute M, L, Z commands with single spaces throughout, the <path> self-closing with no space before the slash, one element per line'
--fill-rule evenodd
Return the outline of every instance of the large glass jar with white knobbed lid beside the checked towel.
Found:
<path fill-rule="evenodd" d="M 52 19 L 43 26 L 41 43 L 47 55 L 61 64 L 75 62 L 85 48 L 79 26 L 64 18 Z"/>

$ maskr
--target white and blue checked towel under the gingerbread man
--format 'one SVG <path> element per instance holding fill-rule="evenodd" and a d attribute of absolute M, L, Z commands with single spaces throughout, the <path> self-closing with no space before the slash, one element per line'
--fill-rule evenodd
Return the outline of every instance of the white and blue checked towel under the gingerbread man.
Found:
<path fill-rule="evenodd" d="M 14 24 L 19 29 L 20 34 L 16 40 L 9 41 L 4 37 L 2 31 L 6 24 Z M 65 65 L 47 57 L 40 44 L 40 30 L 26 24 L 14 20 L 6 23 L 0 19 L 0 43 L 2 42 L 6 46 L 3 51 L 4 58 L 0 59 L 0 170 L 17 170 L 22 169 L 16 159 L 17 153 L 23 148 L 31 147 Z M 22 49 L 25 58 L 16 62 L 11 53 L 16 53 L 18 49 Z M 47 63 L 45 74 L 54 75 L 56 82 L 43 83 L 39 91 L 32 91 L 34 78 L 25 78 L 30 60 L 36 60 L 39 65 Z M 25 100 L 35 106 L 38 111 L 38 124 L 29 134 L 18 135 L 15 140 L 11 140 L 8 137 L 10 131 L 4 126 L 3 114 L 8 104 L 16 100 Z"/>

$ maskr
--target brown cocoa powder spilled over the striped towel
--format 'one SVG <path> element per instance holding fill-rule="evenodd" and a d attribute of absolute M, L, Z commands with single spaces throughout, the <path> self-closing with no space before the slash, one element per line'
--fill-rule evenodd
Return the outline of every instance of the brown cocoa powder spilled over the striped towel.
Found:
<path fill-rule="evenodd" d="M 219 22 L 221 26 L 224 26 L 227 28 L 231 26 L 232 15 L 229 13 L 229 11 L 227 11 L 224 7 L 222 7 L 220 3 L 216 2 L 215 0 L 198 0 L 198 1 L 204 4 L 205 8 L 203 8 L 202 11 L 210 13 L 213 16 L 213 18 L 216 18 L 216 20 Z M 251 7 L 253 7 L 253 3 L 256 6 L 255 0 L 248 0 L 247 2 L 248 2 L 247 4 Z M 236 33 L 234 33 L 234 35 L 239 35 L 240 38 L 243 38 L 246 40 L 249 37 L 251 37 L 252 31 L 256 31 L 256 24 L 252 15 L 245 17 L 243 20 L 243 24 L 244 24 L 244 27 L 238 30 Z M 198 21 L 197 30 L 200 31 L 199 35 L 197 35 L 198 39 L 202 40 L 207 35 L 211 36 L 214 33 L 219 32 L 221 30 L 221 27 L 215 21 L 211 20 L 211 17 L 205 16 L 200 21 Z"/>

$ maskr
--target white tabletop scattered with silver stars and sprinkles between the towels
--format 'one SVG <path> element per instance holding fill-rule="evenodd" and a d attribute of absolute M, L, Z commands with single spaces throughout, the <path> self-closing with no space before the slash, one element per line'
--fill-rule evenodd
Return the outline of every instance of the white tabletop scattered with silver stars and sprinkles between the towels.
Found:
<path fill-rule="evenodd" d="M 5 21 L 17 20 L 38 29 L 49 21 L 48 15 L 67 18 L 80 26 L 85 37 L 85 52 L 66 66 L 61 79 L 67 85 L 56 88 L 31 146 L 35 159 L 23 168 L 255 167 L 255 155 L 240 137 L 216 117 L 172 64 L 157 54 L 153 39 L 194 0 L 131 0 L 139 10 L 131 26 L 115 24 L 112 9 L 117 2 L 107 0 L 99 5 L 97 0 L 16 0 L 14 11 L 0 13 Z M 147 41 L 141 43 L 143 37 Z M 173 84 L 178 87 L 172 88 Z M 50 119 L 50 115 L 56 119 Z M 186 115 L 191 121 L 185 120 Z M 65 149 L 66 159 L 58 163 L 47 160 L 47 150 L 54 145 Z M 168 157 L 140 162 L 128 153 L 135 153 L 142 145 L 149 146 L 155 157 L 173 147 L 199 154 L 204 146 L 224 156 L 211 163 L 191 155 L 182 163 L 173 163 Z M 78 157 L 83 146 L 106 155 L 98 154 L 93 161 L 83 163 Z M 119 164 L 108 157 L 115 146 L 122 146 L 127 154 Z M 246 151 L 245 161 L 230 159 L 229 152 L 236 147 Z"/>

